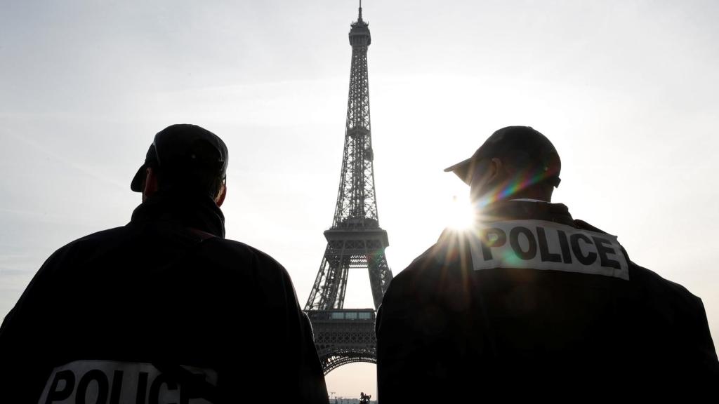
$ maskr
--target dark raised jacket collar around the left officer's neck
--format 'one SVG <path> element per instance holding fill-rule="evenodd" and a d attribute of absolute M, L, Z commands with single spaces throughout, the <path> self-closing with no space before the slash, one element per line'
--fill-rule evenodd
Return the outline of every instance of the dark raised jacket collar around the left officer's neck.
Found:
<path fill-rule="evenodd" d="M 180 224 L 224 239 L 224 214 L 209 196 L 177 190 L 160 191 L 132 212 L 130 223 Z"/>

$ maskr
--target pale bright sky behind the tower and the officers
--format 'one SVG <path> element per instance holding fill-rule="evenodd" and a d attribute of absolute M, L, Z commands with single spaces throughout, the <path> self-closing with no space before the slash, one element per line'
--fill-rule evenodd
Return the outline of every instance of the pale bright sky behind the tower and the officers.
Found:
<path fill-rule="evenodd" d="M 227 237 L 304 306 L 331 226 L 357 2 L 0 0 L 0 317 L 59 247 L 122 226 L 152 137 L 229 147 Z M 702 298 L 719 336 L 719 4 L 365 0 L 380 225 L 395 274 L 468 190 L 444 167 L 500 127 L 562 157 L 554 201 Z M 345 307 L 371 307 L 351 272 Z M 327 377 L 376 397 L 375 366 Z"/>

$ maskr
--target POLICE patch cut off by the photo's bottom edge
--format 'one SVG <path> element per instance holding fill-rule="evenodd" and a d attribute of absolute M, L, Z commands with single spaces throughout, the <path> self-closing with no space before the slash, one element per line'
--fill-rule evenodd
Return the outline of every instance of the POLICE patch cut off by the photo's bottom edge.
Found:
<path fill-rule="evenodd" d="M 210 403 L 199 397 L 194 381 L 216 386 L 217 372 L 188 366 L 183 366 L 183 369 L 189 372 L 188 378 L 192 381 L 179 382 L 149 363 L 70 362 L 52 371 L 38 403 Z"/>

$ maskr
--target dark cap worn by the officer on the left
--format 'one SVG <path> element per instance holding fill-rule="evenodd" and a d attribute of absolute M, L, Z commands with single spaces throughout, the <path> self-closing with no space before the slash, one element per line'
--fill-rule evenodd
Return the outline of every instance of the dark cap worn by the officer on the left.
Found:
<path fill-rule="evenodd" d="M 155 134 L 145 163 L 132 178 L 130 189 L 142 192 L 145 169 L 155 167 L 163 175 L 187 175 L 192 170 L 227 173 L 227 146 L 216 134 L 192 124 L 175 124 Z"/>

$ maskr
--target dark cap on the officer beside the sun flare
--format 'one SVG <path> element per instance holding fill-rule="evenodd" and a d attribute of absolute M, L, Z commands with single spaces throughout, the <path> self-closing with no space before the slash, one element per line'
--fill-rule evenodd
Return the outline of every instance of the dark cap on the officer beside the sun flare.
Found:
<path fill-rule="evenodd" d="M 503 157 L 510 153 L 522 152 L 531 164 L 544 172 L 543 180 L 549 181 L 555 187 L 559 186 L 559 171 L 562 169 L 562 161 L 559 160 L 557 149 L 549 139 L 532 127 L 504 127 L 494 132 L 472 157 L 458 162 L 452 167 L 446 167 L 445 172 L 450 171 L 459 177 L 464 183 L 470 185 L 472 182 L 472 168 L 477 162 L 485 158 Z"/>

